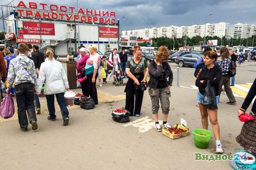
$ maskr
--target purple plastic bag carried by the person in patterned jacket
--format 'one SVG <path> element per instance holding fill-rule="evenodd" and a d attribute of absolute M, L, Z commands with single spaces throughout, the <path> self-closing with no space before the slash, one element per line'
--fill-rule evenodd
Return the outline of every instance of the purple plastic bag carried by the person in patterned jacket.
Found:
<path fill-rule="evenodd" d="M 14 99 L 12 99 L 11 94 L 7 94 L 0 106 L 0 115 L 4 119 L 8 119 L 14 116 L 14 112 Z"/>

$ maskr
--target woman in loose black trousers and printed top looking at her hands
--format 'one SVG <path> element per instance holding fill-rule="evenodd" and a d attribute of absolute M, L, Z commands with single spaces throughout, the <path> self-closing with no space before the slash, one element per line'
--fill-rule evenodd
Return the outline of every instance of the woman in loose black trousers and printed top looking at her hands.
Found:
<path fill-rule="evenodd" d="M 134 56 L 129 58 L 126 64 L 126 74 L 129 76 L 129 79 L 124 89 L 124 92 L 126 92 L 125 108 L 130 116 L 133 116 L 133 114 L 136 117 L 140 116 L 144 91 L 142 91 L 139 86 L 142 82 L 146 83 L 148 73 L 147 62 L 142 58 L 142 49 L 137 45 L 134 48 Z"/>

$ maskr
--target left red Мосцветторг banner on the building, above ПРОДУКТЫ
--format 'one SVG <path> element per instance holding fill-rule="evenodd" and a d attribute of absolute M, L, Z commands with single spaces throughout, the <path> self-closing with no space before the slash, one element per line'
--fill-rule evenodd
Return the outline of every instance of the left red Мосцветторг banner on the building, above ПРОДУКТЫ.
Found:
<path fill-rule="evenodd" d="M 44 22 L 26 22 L 23 21 L 24 34 L 28 35 L 55 35 L 54 24 Z M 40 26 L 41 25 L 41 26 Z"/>

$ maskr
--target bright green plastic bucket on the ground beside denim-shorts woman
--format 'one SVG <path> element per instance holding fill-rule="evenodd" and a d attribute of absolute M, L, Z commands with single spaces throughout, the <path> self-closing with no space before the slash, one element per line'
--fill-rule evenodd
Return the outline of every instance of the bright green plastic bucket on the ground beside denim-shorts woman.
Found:
<path fill-rule="evenodd" d="M 208 148 L 211 141 L 212 132 L 206 129 L 193 129 L 193 137 L 196 147 L 200 149 Z"/>

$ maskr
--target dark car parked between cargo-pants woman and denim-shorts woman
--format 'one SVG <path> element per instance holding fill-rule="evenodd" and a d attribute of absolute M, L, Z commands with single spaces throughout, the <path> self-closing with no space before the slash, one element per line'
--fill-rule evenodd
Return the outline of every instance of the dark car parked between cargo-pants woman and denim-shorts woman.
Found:
<path fill-rule="evenodd" d="M 182 66 L 193 66 L 195 62 L 204 56 L 202 53 L 190 53 L 178 56 L 178 58 L 175 59 L 175 63 L 178 64 L 180 67 Z"/>

